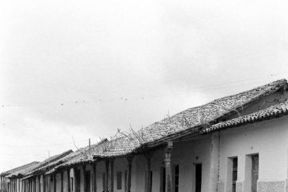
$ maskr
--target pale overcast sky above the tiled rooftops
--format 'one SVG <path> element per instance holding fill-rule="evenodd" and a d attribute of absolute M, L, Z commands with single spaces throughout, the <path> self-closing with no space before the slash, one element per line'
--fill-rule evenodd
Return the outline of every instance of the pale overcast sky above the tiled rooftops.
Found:
<path fill-rule="evenodd" d="M 2 0 L 0 172 L 287 78 L 287 5 Z"/>

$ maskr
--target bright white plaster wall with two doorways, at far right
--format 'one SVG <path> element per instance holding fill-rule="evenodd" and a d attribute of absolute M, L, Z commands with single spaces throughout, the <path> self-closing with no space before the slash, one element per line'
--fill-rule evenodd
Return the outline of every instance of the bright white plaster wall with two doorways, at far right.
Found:
<path fill-rule="evenodd" d="M 271 191 L 273 186 L 283 185 L 283 183 L 285 185 L 287 138 L 288 117 L 221 131 L 219 181 L 226 182 L 225 191 L 232 189 L 228 182 L 230 157 L 238 158 L 237 191 L 250 191 L 248 172 L 251 169 L 248 169 L 248 166 L 251 154 L 259 154 L 259 191 Z M 283 191 L 284 187 L 277 187 L 277 191 Z"/>

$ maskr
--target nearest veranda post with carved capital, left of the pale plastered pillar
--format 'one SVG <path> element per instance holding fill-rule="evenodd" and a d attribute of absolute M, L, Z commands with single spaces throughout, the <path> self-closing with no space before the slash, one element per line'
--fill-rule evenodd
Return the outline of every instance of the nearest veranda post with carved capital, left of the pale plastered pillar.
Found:
<path fill-rule="evenodd" d="M 165 149 L 165 191 L 172 192 L 172 178 L 171 178 L 171 152 L 173 149 L 173 142 L 167 142 Z"/>

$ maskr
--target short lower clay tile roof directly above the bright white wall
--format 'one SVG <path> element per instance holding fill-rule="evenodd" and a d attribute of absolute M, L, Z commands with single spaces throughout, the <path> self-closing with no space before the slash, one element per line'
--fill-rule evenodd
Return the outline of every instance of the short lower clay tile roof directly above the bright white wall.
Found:
<path fill-rule="evenodd" d="M 263 121 L 265 119 L 271 119 L 274 117 L 280 117 L 282 115 L 287 114 L 288 114 L 288 101 L 284 101 L 281 102 L 280 104 L 269 106 L 268 108 L 259 110 L 257 112 L 252 112 L 248 115 L 243 115 L 241 117 L 237 117 L 234 119 L 230 119 L 228 121 L 211 125 L 209 128 L 203 130 L 203 132 L 212 132 L 215 130 L 237 127 L 248 123 L 256 123 L 258 121 Z"/>

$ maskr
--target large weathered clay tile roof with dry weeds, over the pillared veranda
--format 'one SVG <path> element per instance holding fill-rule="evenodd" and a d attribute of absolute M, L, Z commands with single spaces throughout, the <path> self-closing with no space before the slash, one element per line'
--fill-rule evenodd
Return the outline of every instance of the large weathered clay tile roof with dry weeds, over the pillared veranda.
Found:
<path fill-rule="evenodd" d="M 105 144 L 109 147 L 100 145 L 94 158 L 125 156 L 136 153 L 141 147 L 160 145 L 169 139 L 175 139 L 191 132 L 199 132 L 204 124 L 208 125 L 221 117 L 232 115 L 237 109 L 244 108 L 253 101 L 274 93 L 286 85 L 287 80 L 278 80 L 236 95 L 215 99 L 202 106 L 189 108 L 132 132 L 130 136 L 109 141 Z"/>

